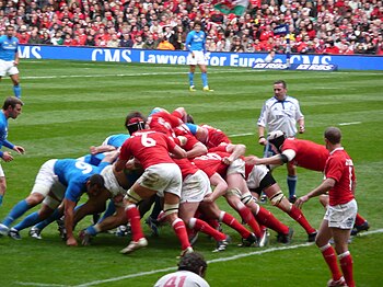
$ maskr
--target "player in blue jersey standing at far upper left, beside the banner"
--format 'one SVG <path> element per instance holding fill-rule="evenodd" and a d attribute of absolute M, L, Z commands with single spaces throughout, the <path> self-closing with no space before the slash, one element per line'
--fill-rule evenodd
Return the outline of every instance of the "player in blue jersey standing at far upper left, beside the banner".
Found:
<path fill-rule="evenodd" d="M 13 36 L 14 27 L 8 25 L 5 35 L 0 37 L 0 80 L 9 74 L 13 82 L 13 93 L 21 97 L 21 88 L 19 80 L 19 39 Z"/>

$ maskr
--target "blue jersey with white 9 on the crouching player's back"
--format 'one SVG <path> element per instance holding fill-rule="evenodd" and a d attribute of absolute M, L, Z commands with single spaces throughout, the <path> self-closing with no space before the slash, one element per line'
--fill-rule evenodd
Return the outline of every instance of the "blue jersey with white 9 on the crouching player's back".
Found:
<path fill-rule="evenodd" d="M 100 174 L 108 165 L 102 162 L 98 167 L 74 159 L 57 160 L 54 172 L 61 184 L 67 186 L 65 198 L 77 203 L 86 193 L 86 182 L 93 174 Z"/>

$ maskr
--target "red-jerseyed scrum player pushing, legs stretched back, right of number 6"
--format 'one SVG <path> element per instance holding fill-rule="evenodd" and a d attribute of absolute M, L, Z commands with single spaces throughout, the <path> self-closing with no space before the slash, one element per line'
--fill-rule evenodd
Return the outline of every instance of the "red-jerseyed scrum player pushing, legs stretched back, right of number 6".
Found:
<path fill-rule="evenodd" d="M 212 152 L 194 159 L 194 163 L 205 171 L 210 183 L 216 186 L 213 193 L 205 197 L 204 200 L 214 202 L 219 196 L 224 195 L 229 205 L 241 215 L 243 221 L 252 228 L 258 240 L 264 239 L 264 233 L 257 220 L 276 230 L 280 242 L 289 243 L 292 230 L 255 203 L 243 177 L 244 161 L 242 159 L 234 160 L 233 153 L 222 151 L 224 149 L 223 146 L 217 147 L 211 149 Z M 263 242 L 259 243 L 263 245 Z"/>

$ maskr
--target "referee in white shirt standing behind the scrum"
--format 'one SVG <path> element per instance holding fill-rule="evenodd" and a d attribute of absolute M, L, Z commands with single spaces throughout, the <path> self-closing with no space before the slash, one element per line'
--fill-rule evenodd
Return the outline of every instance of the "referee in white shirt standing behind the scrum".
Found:
<path fill-rule="evenodd" d="M 298 131 L 297 123 L 299 125 L 299 133 L 303 134 L 304 116 L 301 112 L 298 100 L 287 94 L 287 84 L 285 81 L 276 81 L 274 83 L 274 96 L 265 102 L 257 122 L 259 136 L 258 142 L 259 145 L 266 146 L 266 157 L 269 156 L 269 152 L 271 152 L 271 156 L 274 153 L 267 145 L 265 129 L 267 128 L 268 133 L 282 130 L 287 137 L 294 137 Z M 292 163 L 287 164 L 287 170 L 289 200 L 293 203 L 297 199 L 297 170 Z"/>

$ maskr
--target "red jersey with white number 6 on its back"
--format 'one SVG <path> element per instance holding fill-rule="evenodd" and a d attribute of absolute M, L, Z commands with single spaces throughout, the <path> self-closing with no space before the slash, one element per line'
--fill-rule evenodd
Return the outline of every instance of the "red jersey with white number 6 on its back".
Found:
<path fill-rule="evenodd" d="M 143 169 L 159 163 L 174 163 L 169 156 L 175 148 L 175 142 L 162 133 L 143 129 L 132 134 L 120 149 L 119 159 L 129 160 L 135 157 Z"/>

